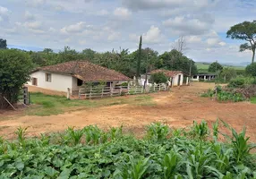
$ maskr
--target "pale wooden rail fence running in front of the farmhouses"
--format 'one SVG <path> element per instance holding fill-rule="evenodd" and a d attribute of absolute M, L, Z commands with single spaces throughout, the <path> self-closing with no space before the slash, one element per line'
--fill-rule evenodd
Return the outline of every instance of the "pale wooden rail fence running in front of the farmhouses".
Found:
<path fill-rule="evenodd" d="M 143 93 L 152 93 L 156 91 L 167 90 L 166 84 L 158 84 L 147 86 L 144 90 L 143 86 L 118 86 L 118 87 L 90 87 L 81 88 L 79 90 L 79 99 L 81 98 L 106 98 L 106 97 L 119 97 L 124 95 L 136 95 Z"/>

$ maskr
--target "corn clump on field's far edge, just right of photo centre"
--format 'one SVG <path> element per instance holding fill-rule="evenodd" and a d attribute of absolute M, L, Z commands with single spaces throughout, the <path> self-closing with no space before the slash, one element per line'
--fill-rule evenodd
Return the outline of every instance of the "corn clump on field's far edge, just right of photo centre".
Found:
<path fill-rule="evenodd" d="M 149 124 L 147 126 L 147 137 L 150 140 L 161 141 L 165 140 L 170 132 L 167 125 L 161 123 Z"/>

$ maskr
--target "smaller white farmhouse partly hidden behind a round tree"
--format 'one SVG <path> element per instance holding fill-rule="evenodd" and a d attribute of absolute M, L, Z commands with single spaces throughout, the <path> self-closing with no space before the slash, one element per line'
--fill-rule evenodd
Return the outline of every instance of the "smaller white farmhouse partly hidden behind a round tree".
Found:
<path fill-rule="evenodd" d="M 147 85 L 149 85 L 150 75 L 158 72 L 164 72 L 169 79 L 169 86 L 182 86 L 184 73 L 182 71 L 168 71 L 168 70 L 154 70 L 149 72 Z M 139 81 L 141 85 L 144 84 L 146 80 L 146 75 L 141 75 L 141 80 Z M 188 80 L 188 79 L 187 79 Z M 188 81 L 187 81 L 188 82 Z"/>

